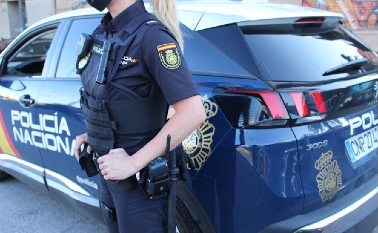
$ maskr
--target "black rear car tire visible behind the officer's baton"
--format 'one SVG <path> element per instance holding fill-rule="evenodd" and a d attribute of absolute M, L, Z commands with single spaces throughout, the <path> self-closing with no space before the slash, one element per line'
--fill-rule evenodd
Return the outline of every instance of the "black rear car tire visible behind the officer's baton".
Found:
<path fill-rule="evenodd" d="M 180 198 L 176 202 L 176 225 L 180 233 L 202 233 L 200 226 Z"/>

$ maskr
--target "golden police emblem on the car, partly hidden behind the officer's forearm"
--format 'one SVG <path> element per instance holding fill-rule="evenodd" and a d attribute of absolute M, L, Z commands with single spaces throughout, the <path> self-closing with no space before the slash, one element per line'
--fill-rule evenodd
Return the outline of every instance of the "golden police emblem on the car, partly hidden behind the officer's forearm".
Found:
<path fill-rule="evenodd" d="M 218 105 L 205 95 L 201 97 L 206 111 L 206 121 L 183 141 L 183 147 L 192 159 L 195 170 L 199 170 L 211 153 L 212 137 L 215 127 L 209 119 L 218 112 Z"/>

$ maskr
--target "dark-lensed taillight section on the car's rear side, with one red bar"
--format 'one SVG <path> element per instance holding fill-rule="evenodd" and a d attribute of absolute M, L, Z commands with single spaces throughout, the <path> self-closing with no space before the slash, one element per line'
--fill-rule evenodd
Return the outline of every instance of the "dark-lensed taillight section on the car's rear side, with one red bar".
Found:
<path fill-rule="evenodd" d="M 290 119 L 275 91 L 218 89 L 214 92 L 215 101 L 235 128 L 285 125 Z"/>

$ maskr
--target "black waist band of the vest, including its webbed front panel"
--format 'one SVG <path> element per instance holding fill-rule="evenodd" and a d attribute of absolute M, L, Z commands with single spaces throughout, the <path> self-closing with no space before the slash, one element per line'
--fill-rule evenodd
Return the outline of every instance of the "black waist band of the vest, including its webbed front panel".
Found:
<path fill-rule="evenodd" d="M 140 134 L 162 128 L 167 107 L 163 94 L 126 100 L 99 100 L 81 90 L 81 108 L 88 131 L 88 144 L 107 153 L 114 134 Z"/>

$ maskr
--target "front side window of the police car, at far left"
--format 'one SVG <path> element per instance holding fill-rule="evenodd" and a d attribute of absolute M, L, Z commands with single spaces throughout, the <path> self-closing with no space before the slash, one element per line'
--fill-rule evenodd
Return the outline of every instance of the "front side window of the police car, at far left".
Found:
<path fill-rule="evenodd" d="M 47 52 L 55 34 L 56 29 L 43 32 L 21 46 L 8 60 L 8 74 L 17 76 L 41 75 Z"/>

